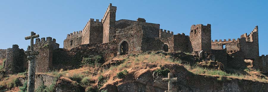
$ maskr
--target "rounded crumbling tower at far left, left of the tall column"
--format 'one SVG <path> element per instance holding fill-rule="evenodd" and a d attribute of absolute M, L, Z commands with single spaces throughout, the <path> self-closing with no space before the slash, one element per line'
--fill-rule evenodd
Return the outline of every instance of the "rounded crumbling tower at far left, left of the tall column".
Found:
<path fill-rule="evenodd" d="M 4 70 L 6 74 L 15 74 L 24 72 L 28 62 L 23 49 L 19 49 L 18 45 L 13 45 L 12 48 L 7 49 L 6 63 Z"/>

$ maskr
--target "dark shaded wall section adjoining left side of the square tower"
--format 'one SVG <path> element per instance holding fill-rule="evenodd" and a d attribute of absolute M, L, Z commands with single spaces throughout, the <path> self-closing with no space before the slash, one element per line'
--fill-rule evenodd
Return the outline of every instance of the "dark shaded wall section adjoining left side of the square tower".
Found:
<path fill-rule="evenodd" d="M 174 35 L 174 51 L 192 52 L 189 36 L 182 34 Z"/>

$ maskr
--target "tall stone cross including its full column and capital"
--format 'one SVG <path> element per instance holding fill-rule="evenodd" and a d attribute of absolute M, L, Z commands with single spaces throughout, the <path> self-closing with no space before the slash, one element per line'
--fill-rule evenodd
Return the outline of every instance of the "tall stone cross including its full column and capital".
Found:
<path fill-rule="evenodd" d="M 31 36 L 25 37 L 25 40 L 31 39 L 30 50 L 24 51 L 27 55 L 28 61 L 28 82 L 27 82 L 27 92 L 35 92 L 35 57 L 39 54 L 38 51 L 34 51 L 34 38 L 38 38 L 39 35 L 35 35 L 31 32 Z"/>

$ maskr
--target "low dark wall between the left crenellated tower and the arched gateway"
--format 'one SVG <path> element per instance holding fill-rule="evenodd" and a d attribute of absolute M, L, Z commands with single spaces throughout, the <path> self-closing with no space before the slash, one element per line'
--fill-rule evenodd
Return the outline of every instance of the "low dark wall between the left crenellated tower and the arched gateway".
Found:
<path fill-rule="evenodd" d="M 104 59 L 115 57 L 117 55 L 117 43 L 115 41 L 101 44 L 89 43 L 77 46 L 70 50 L 53 50 L 53 70 L 77 68 L 83 57 L 89 57 L 90 55 L 101 55 Z"/>

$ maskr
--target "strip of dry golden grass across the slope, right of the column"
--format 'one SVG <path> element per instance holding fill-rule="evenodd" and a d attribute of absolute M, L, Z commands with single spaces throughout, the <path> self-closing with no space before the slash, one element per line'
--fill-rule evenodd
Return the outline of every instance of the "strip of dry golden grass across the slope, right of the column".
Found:
<path fill-rule="evenodd" d="M 118 79 L 116 77 L 118 72 L 121 72 L 123 70 L 127 70 L 128 74 L 132 76 L 133 78 L 139 77 L 141 74 L 145 72 L 152 72 L 156 69 L 159 69 L 160 67 L 150 68 L 147 65 L 150 64 L 157 64 L 157 65 L 164 65 L 164 64 L 181 64 L 181 60 L 173 61 L 169 59 L 169 56 L 163 56 L 163 55 L 156 55 L 156 54 L 140 54 L 138 56 L 131 56 L 131 57 L 115 57 L 112 58 L 113 60 L 119 60 L 124 62 L 118 66 L 111 66 L 108 69 L 102 69 L 100 67 L 83 67 L 79 69 L 74 70 L 67 70 L 67 71 L 55 71 L 55 72 L 49 72 L 48 74 L 51 75 L 61 75 L 61 78 L 65 78 L 66 80 L 70 78 L 71 76 L 75 75 L 81 75 L 83 78 L 90 78 L 90 81 L 95 81 L 95 83 L 90 84 L 92 87 L 98 86 L 98 78 L 100 76 L 104 76 L 105 83 L 103 87 L 105 87 L 107 84 L 117 84 L 120 85 L 122 83 L 126 83 L 126 81 L 123 82 L 124 79 Z M 182 64 L 181 64 L 182 65 Z M 190 66 L 190 65 L 184 65 L 184 67 L 194 74 L 200 74 L 200 75 L 207 75 L 207 76 L 220 76 L 221 77 L 227 77 L 227 79 L 232 78 L 238 78 L 238 79 L 246 79 L 246 80 L 253 80 L 253 81 L 261 81 L 268 83 L 267 78 L 258 78 L 255 76 L 256 74 L 260 74 L 257 70 L 246 70 L 249 75 L 244 75 L 240 73 L 227 73 L 220 70 L 211 70 L 206 68 L 201 68 L 197 65 Z M 82 78 L 82 79 L 83 79 Z M 70 80 L 70 79 L 69 79 Z M 131 81 L 128 81 L 131 82 Z"/>

